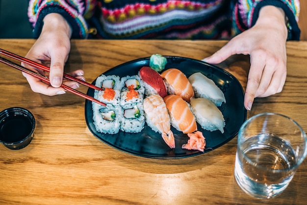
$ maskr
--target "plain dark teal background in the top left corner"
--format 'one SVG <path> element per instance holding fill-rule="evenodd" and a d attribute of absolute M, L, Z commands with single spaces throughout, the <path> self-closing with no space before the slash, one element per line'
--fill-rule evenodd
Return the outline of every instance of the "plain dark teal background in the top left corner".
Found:
<path fill-rule="evenodd" d="M 0 38 L 33 38 L 28 0 L 0 0 Z"/>

